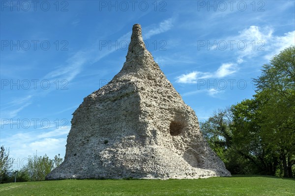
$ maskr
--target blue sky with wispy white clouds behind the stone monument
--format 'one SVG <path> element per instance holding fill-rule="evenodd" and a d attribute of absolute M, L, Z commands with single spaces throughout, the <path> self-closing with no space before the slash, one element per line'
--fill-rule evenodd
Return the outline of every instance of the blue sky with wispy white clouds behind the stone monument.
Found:
<path fill-rule="evenodd" d="M 0 2 L 0 145 L 14 168 L 64 156 L 72 113 L 120 71 L 134 24 L 200 121 L 251 98 L 262 65 L 295 44 L 294 0 Z"/>

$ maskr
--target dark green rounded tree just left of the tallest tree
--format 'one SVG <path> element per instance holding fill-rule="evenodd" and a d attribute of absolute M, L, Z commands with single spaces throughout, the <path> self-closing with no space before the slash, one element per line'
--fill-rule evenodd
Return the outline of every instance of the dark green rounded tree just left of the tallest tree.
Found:
<path fill-rule="evenodd" d="M 257 99 L 245 99 L 232 107 L 234 114 L 233 146 L 250 173 L 274 175 L 277 154 L 267 147 L 268 140 L 262 132 L 261 107 Z"/>

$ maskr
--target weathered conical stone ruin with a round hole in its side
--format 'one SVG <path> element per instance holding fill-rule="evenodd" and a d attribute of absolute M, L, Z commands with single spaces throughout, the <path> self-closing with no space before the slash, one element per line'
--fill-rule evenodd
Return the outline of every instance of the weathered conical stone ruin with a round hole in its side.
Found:
<path fill-rule="evenodd" d="M 230 176 L 187 106 L 132 29 L 126 62 L 73 114 L 63 163 L 47 179 Z"/>

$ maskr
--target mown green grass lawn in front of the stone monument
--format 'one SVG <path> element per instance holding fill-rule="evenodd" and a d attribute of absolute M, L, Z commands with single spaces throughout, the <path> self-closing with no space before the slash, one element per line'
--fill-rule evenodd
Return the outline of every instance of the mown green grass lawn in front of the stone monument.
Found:
<path fill-rule="evenodd" d="M 295 180 L 235 175 L 195 180 L 56 180 L 0 185 L 0 196 L 295 196 Z"/>

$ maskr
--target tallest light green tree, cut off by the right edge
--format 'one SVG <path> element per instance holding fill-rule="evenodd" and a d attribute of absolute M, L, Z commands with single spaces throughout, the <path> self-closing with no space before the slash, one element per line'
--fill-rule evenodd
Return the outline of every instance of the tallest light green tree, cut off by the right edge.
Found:
<path fill-rule="evenodd" d="M 292 177 L 295 165 L 295 46 L 275 55 L 255 79 L 255 99 L 261 107 L 262 137 L 278 153 L 285 177 Z"/>

